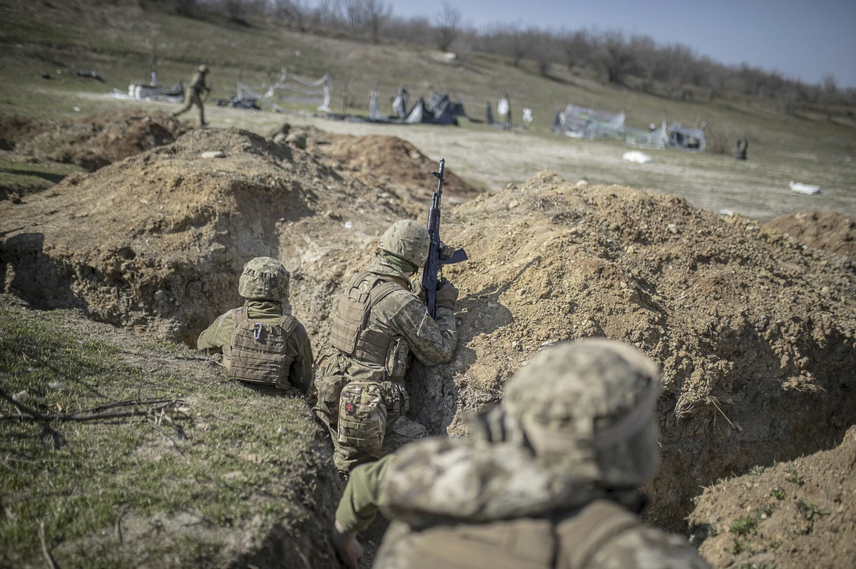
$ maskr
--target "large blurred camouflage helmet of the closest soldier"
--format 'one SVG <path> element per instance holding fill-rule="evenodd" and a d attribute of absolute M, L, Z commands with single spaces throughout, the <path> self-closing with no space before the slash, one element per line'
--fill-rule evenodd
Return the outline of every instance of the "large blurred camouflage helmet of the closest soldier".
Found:
<path fill-rule="evenodd" d="M 657 473 L 660 372 L 622 343 L 585 339 L 544 349 L 508 381 L 508 437 L 525 440 L 550 470 L 604 487 Z"/>

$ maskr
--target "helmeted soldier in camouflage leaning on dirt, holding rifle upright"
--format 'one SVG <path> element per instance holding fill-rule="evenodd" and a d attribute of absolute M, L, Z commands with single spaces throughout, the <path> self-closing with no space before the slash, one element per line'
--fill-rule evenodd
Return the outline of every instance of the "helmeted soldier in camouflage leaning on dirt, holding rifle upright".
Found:
<path fill-rule="evenodd" d="M 426 366 L 448 362 L 458 341 L 458 290 L 449 283 L 437 290 L 436 321 L 413 293 L 410 277 L 425 264 L 428 247 L 425 227 L 396 221 L 339 300 L 332 348 L 318 365 L 315 413 L 330 430 L 340 472 L 426 435 L 425 426 L 407 419 L 405 372 L 412 355 Z"/>

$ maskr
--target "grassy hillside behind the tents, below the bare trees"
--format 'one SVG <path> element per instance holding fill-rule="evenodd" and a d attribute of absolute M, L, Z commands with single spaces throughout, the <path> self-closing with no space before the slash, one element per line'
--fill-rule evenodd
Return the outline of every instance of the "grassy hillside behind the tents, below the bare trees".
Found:
<path fill-rule="evenodd" d="M 730 135 L 732 142 L 749 138 L 751 155 L 770 150 L 804 155 L 807 147 L 813 159 L 790 155 L 788 160 L 856 154 L 852 118 L 797 117 L 757 98 L 735 96 L 710 103 L 706 93 L 697 91 L 696 100 L 677 101 L 602 85 L 587 72 L 578 75 L 562 66 L 550 67 L 545 78 L 535 72 L 532 62 L 514 67 L 507 58 L 477 52 L 448 62 L 427 48 L 322 37 L 273 22 L 241 26 L 217 15 L 191 19 L 153 7 L 70 4 L 42 1 L 0 6 L 0 74 L 10 79 L 3 81 L 0 111 L 56 117 L 74 114 L 74 106 L 97 110 L 89 109 L 92 103 L 86 99 L 69 99 L 68 93 L 104 93 L 112 87 L 124 91 L 130 81 L 148 79 L 154 41 L 162 82 L 187 82 L 193 67 L 205 62 L 212 67 L 215 91 L 211 98 L 234 93 L 238 79 L 261 85 L 269 68 L 274 76 L 287 67 L 311 78 L 329 69 L 334 108 L 341 107 L 346 80 L 359 109 L 367 108 L 374 85 L 385 100 L 403 84 L 412 96 L 449 91 L 476 117 L 483 116 L 485 101 L 496 106 L 503 91 L 508 91 L 518 119 L 522 107 L 533 109 L 536 133 L 549 132 L 556 108 L 574 103 L 624 109 L 627 122 L 639 127 L 659 124 L 664 115 L 685 125 L 706 120 L 711 131 Z M 98 69 L 107 83 L 77 78 L 74 68 Z M 51 73 L 53 79 L 40 79 L 43 72 Z M 384 103 L 383 108 L 389 105 Z"/>

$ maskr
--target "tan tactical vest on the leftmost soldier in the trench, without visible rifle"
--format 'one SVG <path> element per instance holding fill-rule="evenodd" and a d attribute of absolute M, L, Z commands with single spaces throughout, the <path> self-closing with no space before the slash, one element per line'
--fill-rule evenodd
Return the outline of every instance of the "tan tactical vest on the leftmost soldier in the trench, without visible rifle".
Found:
<path fill-rule="evenodd" d="M 223 363 L 229 377 L 251 384 L 287 390 L 288 369 L 294 358 L 285 353 L 285 343 L 297 327 L 297 320 L 284 314 L 276 324 L 247 318 L 247 308 L 233 313 L 235 332 L 229 349 L 223 346 Z"/>

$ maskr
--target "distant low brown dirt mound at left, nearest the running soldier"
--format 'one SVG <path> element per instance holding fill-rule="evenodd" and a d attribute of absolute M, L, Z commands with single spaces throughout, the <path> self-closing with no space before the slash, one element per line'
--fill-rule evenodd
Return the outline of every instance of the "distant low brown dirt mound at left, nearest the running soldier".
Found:
<path fill-rule="evenodd" d="M 187 126 L 164 113 L 123 110 L 51 123 L 0 117 L 0 150 L 76 164 L 93 172 L 128 156 L 170 144 Z"/>

